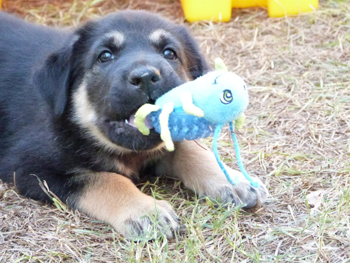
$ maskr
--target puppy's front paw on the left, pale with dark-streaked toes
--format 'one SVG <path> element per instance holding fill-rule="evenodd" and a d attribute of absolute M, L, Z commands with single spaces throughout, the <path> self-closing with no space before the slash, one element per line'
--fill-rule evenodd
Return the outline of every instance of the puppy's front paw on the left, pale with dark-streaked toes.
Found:
<path fill-rule="evenodd" d="M 178 225 L 172 206 L 150 196 L 145 196 L 134 207 L 129 207 L 122 217 L 123 220 L 113 226 L 132 240 L 151 240 L 161 233 L 172 237 Z"/>

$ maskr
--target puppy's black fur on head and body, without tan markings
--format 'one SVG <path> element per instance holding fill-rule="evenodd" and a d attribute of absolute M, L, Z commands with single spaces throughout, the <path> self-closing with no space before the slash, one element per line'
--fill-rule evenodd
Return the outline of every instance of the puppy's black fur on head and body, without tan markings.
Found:
<path fill-rule="evenodd" d="M 176 61 L 162 57 L 165 47 L 150 46 L 149 34 L 159 28 L 174 36 Z M 101 46 L 105 34 L 116 30 L 124 34 L 125 44 L 118 50 L 110 43 Z M 38 177 L 72 206 L 88 184 L 82 171 L 123 174 L 112 164 L 115 160 L 141 169 L 148 160 L 143 150 L 161 142 L 158 134 L 143 136 L 121 124 L 123 120 L 186 81 L 186 76 L 194 79 L 208 70 L 184 27 L 141 11 L 111 14 L 73 31 L 36 26 L 0 13 L 0 36 L 0 179 L 11 183 L 15 173 L 21 193 L 50 201 Z M 99 52 L 106 48 L 115 59 L 98 62 Z M 144 64 L 161 73 L 155 91 L 145 92 L 125 80 L 128 72 Z M 73 94 L 83 81 L 101 119 L 96 127 L 113 143 L 134 152 L 106 149 L 74 119 Z"/>

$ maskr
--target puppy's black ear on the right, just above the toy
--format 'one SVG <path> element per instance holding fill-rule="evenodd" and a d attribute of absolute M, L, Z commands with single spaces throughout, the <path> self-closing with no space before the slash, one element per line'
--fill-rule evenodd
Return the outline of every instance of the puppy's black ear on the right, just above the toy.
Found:
<path fill-rule="evenodd" d="M 191 80 L 208 73 L 211 68 L 207 64 L 206 59 L 200 53 L 199 47 L 186 27 L 180 26 L 180 35 L 183 39 L 185 47 L 185 55 L 187 60 L 187 71 Z"/>

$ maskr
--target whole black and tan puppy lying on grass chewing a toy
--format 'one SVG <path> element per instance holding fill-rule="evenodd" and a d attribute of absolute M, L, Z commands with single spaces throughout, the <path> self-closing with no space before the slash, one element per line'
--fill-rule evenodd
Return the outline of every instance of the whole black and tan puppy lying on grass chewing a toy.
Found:
<path fill-rule="evenodd" d="M 50 201 L 37 177 L 71 207 L 123 235 L 152 224 L 171 236 L 176 215 L 166 201 L 140 192 L 132 180 L 179 178 L 221 202 L 261 205 L 263 185 L 231 186 L 213 154 L 192 141 L 163 149 L 159 134 L 128 124 L 144 103 L 208 71 L 183 26 L 142 11 L 123 11 L 73 31 L 29 24 L 0 13 L 0 179 L 24 195 Z"/>

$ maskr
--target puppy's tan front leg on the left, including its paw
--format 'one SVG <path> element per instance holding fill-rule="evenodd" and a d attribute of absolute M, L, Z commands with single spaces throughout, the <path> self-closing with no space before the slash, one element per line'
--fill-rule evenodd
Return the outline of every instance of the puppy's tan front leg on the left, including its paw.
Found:
<path fill-rule="evenodd" d="M 75 197 L 75 207 L 89 216 L 112 225 L 123 236 L 138 238 L 154 229 L 150 214 L 158 215 L 156 229 L 172 236 L 177 226 L 176 214 L 166 201 L 155 200 L 123 175 L 111 172 L 88 172 L 73 180 L 85 182 Z"/>

